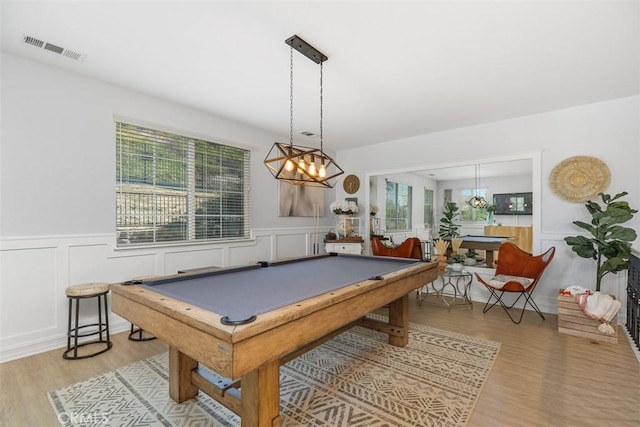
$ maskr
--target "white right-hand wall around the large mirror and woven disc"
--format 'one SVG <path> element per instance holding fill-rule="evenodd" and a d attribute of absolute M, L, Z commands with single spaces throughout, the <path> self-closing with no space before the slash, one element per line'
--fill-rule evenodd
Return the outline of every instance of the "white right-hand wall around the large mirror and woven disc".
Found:
<path fill-rule="evenodd" d="M 556 258 L 545 273 L 535 300 L 543 311 L 557 312 L 558 289 L 594 287 L 595 264 L 577 257 L 563 241 L 581 229 L 574 220 L 589 221 L 582 203 L 569 203 L 548 185 L 555 165 L 576 155 L 595 156 L 611 170 L 607 192 L 627 191 L 626 200 L 640 207 L 640 97 L 628 97 L 446 132 L 420 135 L 375 146 L 340 151 L 337 161 L 351 173 L 373 176 L 436 167 L 531 158 L 534 204 L 534 251 L 556 246 Z M 452 147 L 464 147 L 457 150 Z M 367 200 L 366 188 L 357 197 Z M 339 195 L 340 196 L 340 195 Z M 639 229 L 640 215 L 630 226 Z M 635 244 L 638 247 L 638 242 Z M 609 275 L 603 290 L 626 301 L 625 274 Z M 486 300 L 479 286 L 472 297 Z M 624 316 L 624 310 L 620 312 Z"/>

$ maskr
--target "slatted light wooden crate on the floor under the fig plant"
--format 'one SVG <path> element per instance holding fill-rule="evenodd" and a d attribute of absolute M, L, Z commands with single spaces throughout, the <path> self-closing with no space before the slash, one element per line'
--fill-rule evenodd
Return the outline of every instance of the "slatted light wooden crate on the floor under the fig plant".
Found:
<path fill-rule="evenodd" d="M 618 342 L 618 324 L 615 317 L 610 322 L 615 331 L 613 335 L 598 332 L 599 325 L 600 322 L 584 314 L 573 295 L 558 294 L 558 332 L 592 341 L 612 344 Z"/>

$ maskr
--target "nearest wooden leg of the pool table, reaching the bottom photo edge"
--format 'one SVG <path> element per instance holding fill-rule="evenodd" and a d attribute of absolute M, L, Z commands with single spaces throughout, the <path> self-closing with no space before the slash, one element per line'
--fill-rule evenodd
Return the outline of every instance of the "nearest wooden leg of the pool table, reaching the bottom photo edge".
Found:
<path fill-rule="evenodd" d="M 242 427 L 280 426 L 280 362 L 267 362 L 242 377 Z"/>

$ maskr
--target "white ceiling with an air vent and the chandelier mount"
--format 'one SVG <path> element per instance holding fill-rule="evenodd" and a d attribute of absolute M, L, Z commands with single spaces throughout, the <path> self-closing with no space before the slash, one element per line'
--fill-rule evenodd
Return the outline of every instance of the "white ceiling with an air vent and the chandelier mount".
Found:
<path fill-rule="evenodd" d="M 329 57 L 332 150 L 640 93 L 638 1 L 2 1 L 1 13 L 6 52 L 285 138 L 284 41 L 297 34 Z M 319 66 L 294 62 L 294 132 L 319 133 Z"/>

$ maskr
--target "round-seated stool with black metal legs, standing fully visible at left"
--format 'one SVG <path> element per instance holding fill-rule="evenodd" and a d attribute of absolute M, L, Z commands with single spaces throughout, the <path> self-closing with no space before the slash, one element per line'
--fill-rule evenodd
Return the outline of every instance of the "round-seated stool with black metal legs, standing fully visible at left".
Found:
<path fill-rule="evenodd" d="M 65 359 L 86 359 L 97 356 L 109 350 L 113 343 L 109 337 L 109 309 L 107 306 L 107 294 L 109 293 L 108 283 L 85 283 L 82 285 L 69 286 L 65 293 L 69 299 L 69 322 L 67 329 L 67 350 L 62 357 Z M 98 323 L 79 325 L 80 300 L 86 298 L 98 298 Z M 73 312 L 73 302 L 75 301 L 75 313 Z M 102 305 L 104 304 L 104 312 Z M 72 314 L 75 321 L 72 324 Z M 104 319 L 103 319 L 104 316 Z M 84 332 L 85 328 L 92 328 Z M 97 336 L 97 339 L 85 341 L 78 344 L 78 338 Z M 73 339 L 73 345 L 71 340 Z M 98 350 L 92 353 L 78 355 L 78 349 L 87 345 L 97 345 Z M 73 353 L 73 354 L 70 354 Z"/>

